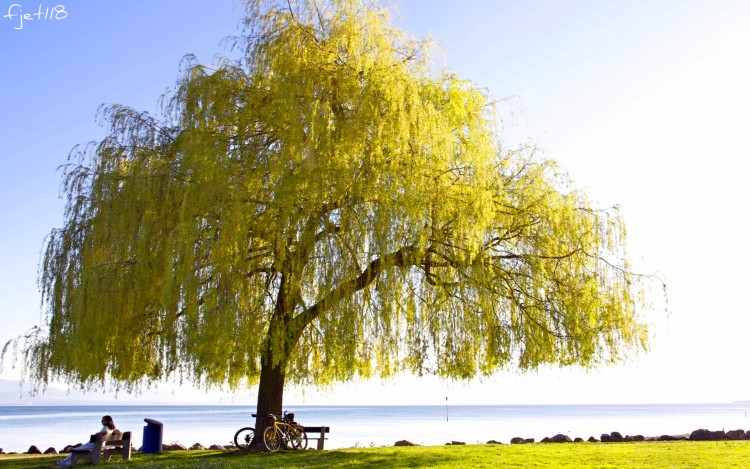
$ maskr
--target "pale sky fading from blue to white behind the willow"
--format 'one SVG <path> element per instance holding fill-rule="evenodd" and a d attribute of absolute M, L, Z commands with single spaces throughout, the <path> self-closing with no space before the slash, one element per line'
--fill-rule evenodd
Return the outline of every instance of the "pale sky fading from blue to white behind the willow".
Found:
<path fill-rule="evenodd" d="M 40 4 L 42 18 L 22 29 L 4 16 Z M 446 66 L 517 97 L 505 108 L 509 142 L 536 142 L 599 205 L 622 207 L 630 255 L 665 277 L 671 314 L 647 318 L 651 352 L 619 366 L 509 371 L 468 386 L 405 378 L 299 398 L 750 399 L 750 3 L 404 0 L 399 11 L 405 29 L 443 42 Z M 0 342 L 40 321 L 39 252 L 62 220 L 56 168 L 104 135 L 98 106 L 156 111 L 180 59 L 211 63 L 241 17 L 232 0 L 0 1 Z"/>

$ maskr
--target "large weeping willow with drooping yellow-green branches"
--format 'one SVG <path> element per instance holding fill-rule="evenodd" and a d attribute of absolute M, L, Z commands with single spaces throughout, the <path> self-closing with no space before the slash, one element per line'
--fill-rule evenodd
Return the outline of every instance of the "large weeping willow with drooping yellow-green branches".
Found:
<path fill-rule="evenodd" d="M 429 41 L 366 0 L 247 12 L 241 58 L 190 62 L 159 118 L 104 108 L 108 136 L 71 153 L 29 378 L 257 384 L 263 416 L 289 382 L 646 347 L 617 211 L 504 148 Z"/>

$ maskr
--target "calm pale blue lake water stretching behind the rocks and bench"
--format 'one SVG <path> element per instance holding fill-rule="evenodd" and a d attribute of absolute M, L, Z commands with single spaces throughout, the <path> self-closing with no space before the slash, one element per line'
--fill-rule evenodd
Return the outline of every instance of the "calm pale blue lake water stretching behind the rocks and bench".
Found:
<path fill-rule="evenodd" d="M 709 430 L 750 429 L 750 403 L 675 405 L 532 406 L 289 406 L 302 425 L 328 425 L 327 449 L 391 446 L 407 439 L 424 445 L 468 444 L 515 436 L 541 440 L 562 433 L 599 438 L 602 433 L 658 436 Z M 164 425 L 164 443 L 186 446 L 230 444 L 234 433 L 253 426 L 254 406 L 0 406 L 0 448 L 42 451 L 88 441 L 102 415 L 143 441 L 144 418 Z"/>

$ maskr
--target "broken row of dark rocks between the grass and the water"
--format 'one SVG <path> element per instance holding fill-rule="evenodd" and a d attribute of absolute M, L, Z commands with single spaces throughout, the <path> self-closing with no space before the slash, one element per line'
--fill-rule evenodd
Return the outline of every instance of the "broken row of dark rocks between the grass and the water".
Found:
<path fill-rule="evenodd" d="M 641 442 L 641 441 L 727 441 L 727 440 L 750 440 L 750 430 L 730 430 L 725 432 L 724 430 L 718 430 L 718 431 L 712 431 L 707 429 L 699 429 L 694 430 L 691 433 L 685 433 L 681 435 L 661 435 L 661 436 L 643 436 L 643 435 L 626 435 L 622 436 L 620 432 L 612 432 L 612 433 L 602 433 L 602 435 L 597 439 L 593 436 L 589 437 L 587 440 L 584 440 L 583 438 L 577 437 L 577 438 L 571 438 L 568 435 L 563 435 L 561 433 L 558 433 L 557 435 L 545 437 L 542 438 L 539 443 L 635 443 L 635 442 Z M 536 443 L 534 438 L 523 438 L 523 437 L 514 437 L 511 438 L 510 444 L 512 445 L 518 445 L 518 444 L 532 444 Z M 465 445 L 466 442 L 462 441 L 451 441 L 446 443 L 446 445 Z M 504 443 L 496 440 L 489 440 L 487 441 L 488 445 L 502 445 Z M 76 445 L 68 445 L 65 448 L 61 449 L 59 452 L 55 448 L 47 448 L 45 451 L 41 451 L 37 446 L 31 445 L 28 449 L 28 451 L 25 451 L 23 454 L 65 454 L 69 453 L 73 449 L 80 446 L 81 443 L 78 443 Z M 397 441 L 394 446 L 420 446 L 416 443 L 412 443 L 409 440 L 399 440 Z M 222 446 L 222 445 L 211 445 L 211 446 L 204 446 L 200 443 L 196 443 L 193 446 L 187 447 L 185 445 L 182 445 L 180 443 L 171 443 L 171 444 L 164 444 L 162 445 L 162 448 L 164 451 L 188 451 L 188 450 L 205 450 L 205 449 L 211 449 L 216 451 L 225 451 L 229 449 L 233 449 L 234 446 Z M 139 449 L 134 449 L 135 451 L 140 451 Z M 3 449 L 0 448 L 0 454 L 17 454 L 14 452 L 5 453 L 3 452 Z"/>

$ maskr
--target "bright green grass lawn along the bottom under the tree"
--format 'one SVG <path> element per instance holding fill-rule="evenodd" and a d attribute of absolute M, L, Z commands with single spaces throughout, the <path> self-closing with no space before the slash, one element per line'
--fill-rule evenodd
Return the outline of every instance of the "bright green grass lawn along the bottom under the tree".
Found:
<path fill-rule="evenodd" d="M 0 469 L 55 467 L 59 455 L 0 455 Z M 81 463 L 77 467 L 89 465 Z M 750 442 L 646 442 L 353 448 L 242 453 L 237 450 L 134 454 L 115 468 L 750 468 Z"/>

